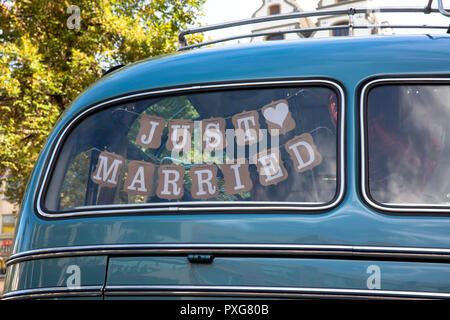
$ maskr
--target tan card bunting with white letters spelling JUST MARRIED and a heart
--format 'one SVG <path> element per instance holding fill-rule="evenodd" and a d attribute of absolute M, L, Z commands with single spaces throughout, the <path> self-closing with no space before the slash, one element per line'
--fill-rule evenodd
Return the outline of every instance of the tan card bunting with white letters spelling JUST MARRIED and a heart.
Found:
<path fill-rule="evenodd" d="M 267 124 L 270 135 L 284 135 L 296 127 L 289 110 L 288 99 L 281 99 L 265 105 L 261 114 Z M 252 145 L 261 139 L 258 110 L 243 111 L 231 116 L 238 146 Z M 127 111 L 127 110 L 126 110 Z M 227 146 L 226 118 L 209 118 L 201 121 L 202 150 L 221 151 Z M 188 153 L 192 147 L 194 121 L 171 119 L 154 115 L 142 115 L 136 144 L 143 148 L 156 149 L 161 146 L 162 134 L 168 123 L 166 148 L 172 152 Z M 314 144 L 310 133 L 293 137 L 283 145 L 288 152 L 297 172 L 311 170 L 322 162 L 322 156 Z M 120 172 L 126 159 L 112 152 L 102 151 L 91 179 L 103 187 L 116 187 Z M 254 155 L 252 163 L 257 166 L 259 183 L 262 186 L 278 184 L 288 178 L 279 148 L 272 148 Z M 192 180 L 191 195 L 194 199 L 206 200 L 219 193 L 216 164 L 197 164 L 190 167 Z M 220 165 L 224 176 L 225 193 L 229 195 L 248 192 L 253 188 L 250 178 L 249 162 L 246 159 L 233 159 Z M 155 174 L 157 173 L 156 183 Z M 161 199 L 176 200 L 184 195 L 184 166 L 175 164 L 159 165 L 132 160 L 124 182 L 124 191 L 129 195 L 147 196 L 154 190 Z M 156 187 L 156 188 L 155 188 Z"/>

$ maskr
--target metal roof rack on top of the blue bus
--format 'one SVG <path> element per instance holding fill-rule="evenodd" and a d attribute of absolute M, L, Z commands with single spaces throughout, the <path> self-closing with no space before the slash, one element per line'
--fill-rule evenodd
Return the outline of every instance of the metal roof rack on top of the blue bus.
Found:
<path fill-rule="evenodd" d="M 236 20 L 218 24 L 212 24 L 208 26 L 201 26 L 191 29 L 183 30 L 178 35 L 179 47 L 178 51 L 188 50 L 198 47 L 203 47 L 215 43 L 226 42 L 231 40 L 238 40 L 244 38 L 260 37 L 267 35 L 278 35 L 278 34 L 288 34 L 288 33 L 310 33 L 314 31 L 322 30 L 334 30 L 334 29 L 346 29 L 349 30 L 349 36 L 353 35 L 353 30 L 355 29 L 445 29 L 447 33 L 450 31 L 449 25 L 388 25 L 388 24 L 373 24 L 373 25 L 355 25 L 353 23 L 353 17 L 355 14 L 360 13 L 440 13 L 446 17 L 450 17 L 450 11 L 446 10 L 442 3 L 443 0 L 438 0 L 438 8 L 433 9 L 431 5 L 433 0 L 429 0 L 425 7 L 383 7 L 383 8 L 349 8 L 349 9 L 336 9 L 336 10 L 316 10 L 309 12 L 290 12 L 283 14 L 276 14 L 264 17 L 248 18 L 243 20 Z M 230 36 L 226 38 L 221 38 L 217 40 L 205 41 L 201 43 L 188 44 L 186 35 L 196 34 L 201 32 L 219 30 L 224 28 L 233 28 L 243 25 L 256 24 L 268 21 L 278 21 L 278 20 L 288 20 L 296 18 L 308 18 L 308 17 L 320 17 L 320 16 L 334 16 L 334 15 L 348 15 L 349 23 L 346 25 L 335 25 L 327 27 L 312 27 L 312 28 L 296 28 L 290 30 L 282 31 L 270 31 L 270 32 L 252 32 L 247 34 L 241 34 L 236 36 Z"/>

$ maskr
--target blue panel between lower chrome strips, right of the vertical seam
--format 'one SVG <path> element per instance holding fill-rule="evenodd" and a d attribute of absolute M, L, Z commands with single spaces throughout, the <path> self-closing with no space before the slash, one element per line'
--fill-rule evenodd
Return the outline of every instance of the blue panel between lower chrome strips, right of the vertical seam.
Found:
<path fill-rule="evenodd" d="M 367 269 L 383 270 L 383 290 L 447 292 L 450 268 L 418 262 L 355 263 L 333 259 L 216 258 L 214 267 L 183 257 L 111 258 L 107 283 L 120 285 L 208 285 L 367 289 Z M 133 277 L 129 275 L 133 274 Z"/>

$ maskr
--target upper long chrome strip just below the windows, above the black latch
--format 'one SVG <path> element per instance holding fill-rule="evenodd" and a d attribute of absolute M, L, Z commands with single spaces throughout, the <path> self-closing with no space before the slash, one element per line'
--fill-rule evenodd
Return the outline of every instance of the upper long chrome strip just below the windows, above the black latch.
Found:
<path fill-rule="evenodd" d="M 211 253 L 223 255 L 286 255 L 286 256 L 342 256 L 352 258 L 420 258 L 450 260 L 450 249 L 418 247 L 376 247 L 350 245 L 301 245 L 301 244 L 122 244 L 57 247 L 16 253 L 8 258 L 6 265 L 34 259 L 61 258 L 89 255 L 133 254 L 189 254 Z"/>

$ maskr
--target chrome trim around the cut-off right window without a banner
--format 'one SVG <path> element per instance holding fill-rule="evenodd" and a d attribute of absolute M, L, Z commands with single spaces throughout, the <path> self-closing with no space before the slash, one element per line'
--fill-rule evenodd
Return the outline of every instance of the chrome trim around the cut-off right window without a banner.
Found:
<path fill-rule="evenodd" d="M 411 77 L 411 78 L 383 78 L 376 79 L 368 82 L 364 85 L 361 90 L 360 96 L 360 110 L 359 110 L 359 121 L 360 121 L 360 146 L 361 146 L 361 193 L 364 200 L 371 205 L 372 207 L 383 210 L 383 211 L 394 211 L 394 212 L 427 212 L 427 213 L 436 213 L 436 212 L 450 212 L 450 206 L 447 208 L 444 205 L 433 205 L 433 204 L 378 204 L 374 200 L 372 200 L 369 196 L 368 190 L 366 189 L 366 179 L 367 177 L 367 168 L 366 168 L 366 123 L 364 119 L 365 115 L 365 105 L 364 98 L 367 94 L 367 89 L 369 86 L 377 83 L 383 82 L 396 82 L 399 84 L 404 84 L 408 82 L 422 82 L 422 84 L 426 84 L 427 82 L 436 82 L 439 81 L 441 83 L 450 84 L 450 78 L 420 78 L 420 77 Z M 424 208 L 417 208 L 417 207 Z"/>

